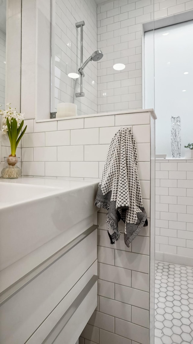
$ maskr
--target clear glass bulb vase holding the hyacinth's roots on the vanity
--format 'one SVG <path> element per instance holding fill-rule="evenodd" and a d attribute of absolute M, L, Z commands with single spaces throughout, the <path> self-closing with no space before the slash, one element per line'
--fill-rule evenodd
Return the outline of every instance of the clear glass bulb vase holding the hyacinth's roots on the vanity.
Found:
<path fill-rule="evenodd" d="M 20 161 L 19 157 L 4 157 L 6 166 L 1 171 L 3 178 L 19 178 L 22 175 L 22 170 L 17 166 Z"/>

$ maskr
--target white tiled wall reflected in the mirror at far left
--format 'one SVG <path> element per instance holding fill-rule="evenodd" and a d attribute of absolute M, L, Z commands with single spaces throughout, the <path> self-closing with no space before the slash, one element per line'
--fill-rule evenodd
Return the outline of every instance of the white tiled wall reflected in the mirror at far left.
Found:
<path fill-rule="evenodd" d="M 0 30 L 0 105 L 5 106 L 6 34 Z"/>

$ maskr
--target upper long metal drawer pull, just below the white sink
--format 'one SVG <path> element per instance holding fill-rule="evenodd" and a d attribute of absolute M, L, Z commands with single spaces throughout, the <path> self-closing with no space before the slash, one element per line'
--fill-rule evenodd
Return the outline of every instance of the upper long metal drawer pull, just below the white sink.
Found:
<path fill-rule="evenodd" d="M 41 264 L 35 267 L 33 270 L 29 271 L 20 278 L 18 281 L 13 283 L 10 287 L 3 290 L 0 293 L 0 306 L 8 301 L 13 295 L 19 292 L 22 288 L 24 288 L 29 282 L 34 280 L 37 276 L 39 276 L 43 271 L 49 268 L 52 264 L 54 264 L 58 259 L 63 257 L 69 250 L 71 250 L 74 246 L 79 244 L 82 240 L 84 240 L 89 234 L 94 232 L 94 230 L 98 228 L 97 225 L 93 225 L 86 229 L 83 233 L 77 236 L 75 239 L 70 241 L 67 245 L 63 246 L 60 250 L 58 250 L 55 254 L 44 260 Z"/>

